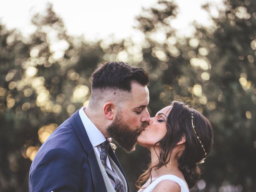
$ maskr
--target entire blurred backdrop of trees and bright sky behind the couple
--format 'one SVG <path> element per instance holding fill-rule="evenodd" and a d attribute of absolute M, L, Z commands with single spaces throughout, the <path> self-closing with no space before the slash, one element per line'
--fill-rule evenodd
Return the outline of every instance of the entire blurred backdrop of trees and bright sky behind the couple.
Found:
<path fill-rule="evenodd" d="M 0 4 L 1 192 L 28 191 L 36 152 L 88 104 L 90 76 L 109 60 L 150 73 L 151 115 L 181 99 L 212 123 L 214 150 L 191 191 L 256 191 L 255 0 Z M 147 150 L 116 154 L 137 191 Z"/>

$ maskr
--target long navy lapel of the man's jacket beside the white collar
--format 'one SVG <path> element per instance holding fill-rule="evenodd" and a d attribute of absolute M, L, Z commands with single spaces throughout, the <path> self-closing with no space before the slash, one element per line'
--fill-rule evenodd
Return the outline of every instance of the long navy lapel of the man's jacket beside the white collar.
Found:
<path fill-rule="evenodd" d="M 86 130 L 84 128 L 82 120 L 79 116 L 79 110 L 77 110 L 70 117 L 70 122 L 71 122 L 76 134 L 78 135 L 80 142 L 82 143 L 84 151 L 88 155 L 88 163 L 89 163 L 89 167 L 90 167 L 94 190 L 96 192 L 107 191 L 106 186 L 104 185 L 104 180 L 103 180 L 102 174 L 100 172 L 100 167 L 98 165 L 94 150 L 92 148 L 92 144 L 88 138 L 88 135 L 86 133 Z"/>

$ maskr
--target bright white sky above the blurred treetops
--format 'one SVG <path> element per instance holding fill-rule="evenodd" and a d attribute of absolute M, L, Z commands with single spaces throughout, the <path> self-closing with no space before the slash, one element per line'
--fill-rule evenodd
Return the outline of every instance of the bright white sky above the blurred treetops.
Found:
<path fill-rule="evenodd" d="M 204 26 L 211 26 L 212 21 L 201 6 L 212 2 L 219 8 L 222 0 L 174 0 L 179 6 L 178 18 L 172 26 L 181 36 L 191 36 L 196 21 Z M 142 7 L 156 6 L 157 0 L 0 0 L 0 23 L 7 28 L 17 28 L 24 36 L 31 34 L 35 28 L 31 18 L 35 13 L 43 13 L 48 2 L 63 19 L 70 35 L 84 35 L 87 40 L 100 40 L 114 35 L 116 39 L 135 36 L 135 17 L 142 12 Z M 218 11 L 212 8 L 212 14 Z"/>

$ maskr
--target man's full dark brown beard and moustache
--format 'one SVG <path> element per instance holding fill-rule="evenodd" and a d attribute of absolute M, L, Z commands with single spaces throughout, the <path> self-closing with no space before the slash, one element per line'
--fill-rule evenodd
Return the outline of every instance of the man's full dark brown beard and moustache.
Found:
<path fill-rule="evenodd" d="M 130 125 L 122 120 L 120 112 L 116 114 L 116 119 L 108 126 L 107 132 L 116 143 L 126 152 L 132 152 L 136 148 L 136 140 L 140 132 L 148 126 L 147 122 L 142 122 L 141 126 L 133 130 Z"/>

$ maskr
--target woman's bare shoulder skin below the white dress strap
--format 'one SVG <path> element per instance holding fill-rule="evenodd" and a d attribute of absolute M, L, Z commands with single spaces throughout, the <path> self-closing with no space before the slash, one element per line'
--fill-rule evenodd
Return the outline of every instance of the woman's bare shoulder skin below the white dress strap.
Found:
<path fill-rule="evenodd" d="M 180 192 L 178 183 L 170 180 L 160 181 L 152 192 Z"/>

